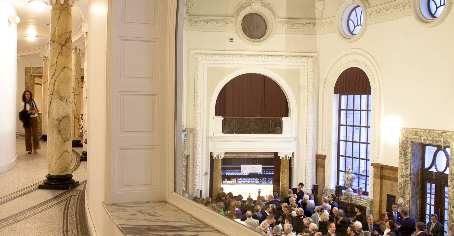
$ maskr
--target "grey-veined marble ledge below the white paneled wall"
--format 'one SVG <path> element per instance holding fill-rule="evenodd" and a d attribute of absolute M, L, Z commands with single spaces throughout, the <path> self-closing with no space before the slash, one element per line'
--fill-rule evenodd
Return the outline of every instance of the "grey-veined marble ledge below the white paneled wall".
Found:
<path fill-rule="evenodd" d="M 125 236 L 224 235 L 165 201 L 103 205 Z"/>

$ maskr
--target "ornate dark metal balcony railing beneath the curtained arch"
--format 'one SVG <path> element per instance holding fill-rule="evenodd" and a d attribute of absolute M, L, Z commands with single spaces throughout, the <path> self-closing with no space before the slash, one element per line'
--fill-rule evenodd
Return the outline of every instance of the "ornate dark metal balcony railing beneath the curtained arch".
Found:
<path fill-rule="evenodd" d="M 232 117 L 222 120 L 224 134 L 282 134 L 282 117 Z"/>

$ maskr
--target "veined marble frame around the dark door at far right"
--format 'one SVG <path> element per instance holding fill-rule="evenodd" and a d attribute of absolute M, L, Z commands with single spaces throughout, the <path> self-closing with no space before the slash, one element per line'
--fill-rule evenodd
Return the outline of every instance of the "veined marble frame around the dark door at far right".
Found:
<path fill-rule="evenodd" d="M 454 156 L 454 131 L 401 128 L 399 141 L 399 180 L 397 203 L 409 209 L 410 217 L 418 219 L 419 173 L 421 170 L 422 144 L 449 146 L 449 156 Z M 448 199 L 454 199 L 454 158 L 449 160 Z M 410 207 L 414 206 L 414 207 Z M 448 225 L 454 223 L 454 202 L 448 201 Z"/>

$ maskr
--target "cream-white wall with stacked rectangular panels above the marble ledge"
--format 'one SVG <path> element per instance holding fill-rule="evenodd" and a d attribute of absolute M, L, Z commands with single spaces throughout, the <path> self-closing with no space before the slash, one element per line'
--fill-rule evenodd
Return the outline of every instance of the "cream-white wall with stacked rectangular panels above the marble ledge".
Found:
<path fill-rule="evenodd" d="M 164 200 L 168 1 L 112 0 L 109 202 Z"/>

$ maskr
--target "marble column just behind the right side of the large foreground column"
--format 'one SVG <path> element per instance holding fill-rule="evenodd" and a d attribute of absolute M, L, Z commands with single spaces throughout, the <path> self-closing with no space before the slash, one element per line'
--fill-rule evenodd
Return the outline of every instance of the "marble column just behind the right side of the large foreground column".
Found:
<path fill-rule="evenodd" d="M 73 85 L 73 126 L 71 129 L 72 147 L 82 147 L 80 141 L 80 50 L 84 50 L 84 45 L 72 45 L 73 66 L 72 66 L 72 85 Z"/>

